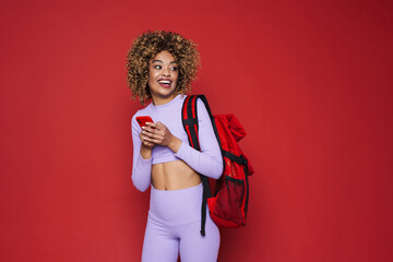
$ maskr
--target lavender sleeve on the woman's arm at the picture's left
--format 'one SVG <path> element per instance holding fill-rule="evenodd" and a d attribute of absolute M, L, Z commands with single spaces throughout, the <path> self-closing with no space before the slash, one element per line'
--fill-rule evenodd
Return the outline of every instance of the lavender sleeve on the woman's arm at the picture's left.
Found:
<path fill-rule="evenodd" d="M 131 179 L 134 187 L 140 191 L 145 191 L 151 184 L 152 178 L 152 157 L 145 159 L 141 155 L 142 141 L 140 138 L 141 128 L 139 127 L 135 116 L 131 120 L 133 160 Z"/>

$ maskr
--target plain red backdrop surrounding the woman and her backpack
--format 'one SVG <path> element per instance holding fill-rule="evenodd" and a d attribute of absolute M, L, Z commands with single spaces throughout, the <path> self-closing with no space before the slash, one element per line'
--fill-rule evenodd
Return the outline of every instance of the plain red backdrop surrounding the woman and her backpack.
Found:
<path fill-rule="evenodd" d="M 257 172 L 221 261 L 393 261 L 392 1 L 1 1 L 0 260 L 140 261 L 126 55 L 199 44 L 193 93 Z"/>

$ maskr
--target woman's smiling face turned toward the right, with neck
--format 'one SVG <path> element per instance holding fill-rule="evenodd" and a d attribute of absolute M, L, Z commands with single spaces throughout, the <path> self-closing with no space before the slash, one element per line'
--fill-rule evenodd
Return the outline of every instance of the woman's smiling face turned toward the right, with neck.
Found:
<path fill-rule="evenodd" d="M 170 52 L 160 51 L 150 61 L 147 84 L 154 105 L 162 105 L 175 98 L 178 76 L 178 63 Z"/>

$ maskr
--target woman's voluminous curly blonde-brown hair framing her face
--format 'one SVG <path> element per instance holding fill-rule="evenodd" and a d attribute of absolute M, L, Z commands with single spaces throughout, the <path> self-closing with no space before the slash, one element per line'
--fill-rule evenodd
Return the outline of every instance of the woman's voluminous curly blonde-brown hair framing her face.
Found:
<path fill-rule="evenodd" d="M 139 98 L 141 104 L 152 98 L 148 82 L 148 66 L 160 51 L 168 51 L 178 61 L 179 76 L 175 94 L 186 94 L 191 91 L 191 82 L 196 79 L 200 68 L 200 57 L 196 45 L 177 33 L 165 31 L 147 31 L 132 44 L 127 56 L 127 85 L 132 98 Z"/>

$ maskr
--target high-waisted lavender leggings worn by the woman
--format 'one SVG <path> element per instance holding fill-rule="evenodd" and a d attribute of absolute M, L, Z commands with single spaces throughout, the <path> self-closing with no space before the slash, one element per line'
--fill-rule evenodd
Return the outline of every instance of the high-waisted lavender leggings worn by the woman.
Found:
<path fill-rule="evenodd" d="M 151 189 L 151 203 L 142 262 L 215 262 L 219 231 L 206 214 L 206 235 L 201 236 L 202 183 L 187 189 Z"/>

